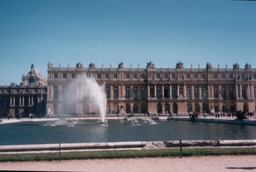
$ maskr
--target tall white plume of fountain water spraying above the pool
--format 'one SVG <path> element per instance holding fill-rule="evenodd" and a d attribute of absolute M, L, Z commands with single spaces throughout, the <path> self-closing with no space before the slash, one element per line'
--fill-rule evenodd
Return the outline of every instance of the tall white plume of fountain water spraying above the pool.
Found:
<path fill-rule="evenodd" d="M 81 76 L 77 78 L 76 82 L 71 85 L 70 88 L 77 90 L 77 96 L 75 96 L 75 99 L 86 99 L 86 101 L 97 106 L 100 113 L 101 122 L 104 123 L 107 108 L 105 83 L 99 85 L 93 77 L 88 77 L 86 74 L 81 74 Z M 71 97 L 74 97 L 74 95 L 71 95 Z"/>

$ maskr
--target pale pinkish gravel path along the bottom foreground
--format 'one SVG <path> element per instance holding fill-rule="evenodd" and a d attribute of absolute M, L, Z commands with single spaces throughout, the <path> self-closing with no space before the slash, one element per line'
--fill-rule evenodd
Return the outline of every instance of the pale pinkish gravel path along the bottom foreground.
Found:
<path fill-rule="evenodd" d="M 132 158 L 51 162 L 0 162 L 0 170 L 20 171 L 256 171 L 256 156 Z"/>

